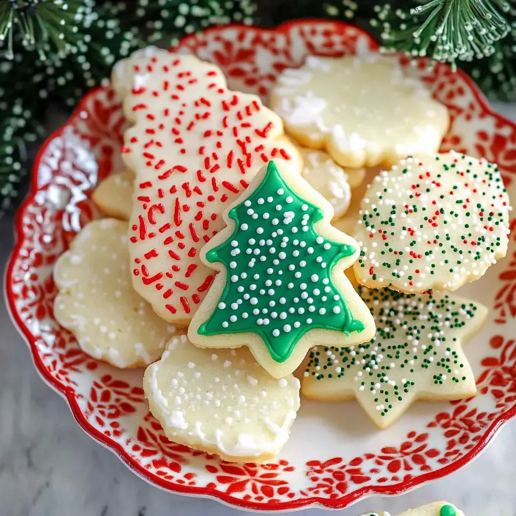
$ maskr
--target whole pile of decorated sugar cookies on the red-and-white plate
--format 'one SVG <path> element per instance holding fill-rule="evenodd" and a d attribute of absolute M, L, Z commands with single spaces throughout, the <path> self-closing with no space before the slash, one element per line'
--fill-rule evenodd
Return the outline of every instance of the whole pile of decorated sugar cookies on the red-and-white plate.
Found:
<path fill-rule="evenodd" d="M 475 394 L 461 345 L 487 309 L 448 292 L 505 255 L 508 198 L 495 165 L 437 153 L 447 111 L 396 59 L 309 57 L 270 107 L 155 47 L 112 85 L 127 170 L 56 264 L 55 316 L 91 356 L 147 366 L 169 439 L 261 462 L 300 391 L 382 428 Z"/>

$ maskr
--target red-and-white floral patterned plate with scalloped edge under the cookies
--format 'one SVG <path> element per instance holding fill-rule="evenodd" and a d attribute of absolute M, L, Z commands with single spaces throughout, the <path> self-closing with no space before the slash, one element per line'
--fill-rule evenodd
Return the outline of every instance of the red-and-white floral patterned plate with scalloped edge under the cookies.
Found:
<path fill-rule="evenodd" d="M 216 62 L 234 89 L 267 97 L 285 67 L 308 54 L 338 56 L 376 48 L 363 31 L 298 21 L 275 30 L 231 26 L 189 36 L 181 52 Z M 516 199 L 516 125 L 497 115 L 463 73 L 400 58 L 453 120 L 442 150 L 498 163 Z M 16 220 L 17 244 L 6 277 L 7 304 L 43 379 L 66 397 L 80 426 L 142 478 L 174 493 L 196 494 L 255 510 L 337 509 L 371 494 L 394 495 L 441 478 L 471 461 L 516 414 L 516 231 L 508 256 L 460 294 L 490 308 L 466 346 L 478 395 L 460 402 L 416 403 L 391 429 L 378 430 L 356 402 L 304 400 L 292 437 L 276 462 L 232 464 L 168 441 L 143 397 L 143 371 L 123 371 L 80 351 L 59 327 L 52 266 L 74 234 L 98 216 L 93 186 L 122 168 L 125 121 L 108 87 L 91 91 L 41 148 L 32 188 Z M 514 221 L 513 221 L 514 222 Z M 516 225 L 516 224 L 513 224 Z"/>

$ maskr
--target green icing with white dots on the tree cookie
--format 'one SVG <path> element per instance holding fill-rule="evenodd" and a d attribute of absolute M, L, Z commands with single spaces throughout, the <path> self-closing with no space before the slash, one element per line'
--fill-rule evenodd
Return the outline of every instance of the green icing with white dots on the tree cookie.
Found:
<path fill-rule="evenodd" d="M 206 253 L 228 273 L 200 335 L 254 332 L 270 356 L 284 362 L 308 330 L 364 329 L 331 280 L 332 268 L 353 247 L 315 231 L 324 212 L 300 198 L 272 161 L 262 183 L 229 217 L 236 223 L 231 238 Z"/>

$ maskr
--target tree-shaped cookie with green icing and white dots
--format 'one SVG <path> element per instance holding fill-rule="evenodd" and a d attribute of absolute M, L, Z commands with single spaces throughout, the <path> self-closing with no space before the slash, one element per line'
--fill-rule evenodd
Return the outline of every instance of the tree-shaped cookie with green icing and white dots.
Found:
<path fill-rule="evenodd" d="M 191 321 L 190 341 L 249 346 L 279 378 L 316 344 L 369 340 L 373 318 L 344 275 L 359 248 L 330 225 L 332 216 L 292 165 L 264 166 L 224 212 L 227 228 L 202 250 L 219 274 Z"/>

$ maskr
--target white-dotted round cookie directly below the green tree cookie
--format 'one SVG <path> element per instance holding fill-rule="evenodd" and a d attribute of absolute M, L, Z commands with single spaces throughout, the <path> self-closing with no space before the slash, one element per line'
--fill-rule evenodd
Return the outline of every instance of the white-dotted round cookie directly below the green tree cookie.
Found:
<path fill-rule="evenodd" d="M 143 389 L 171 441 L 235 462 L 275 457 L 299 409 L 297 378 L 272 378 L 246 348 L 199 349 L 185 335 L 147 368 Z"/>

